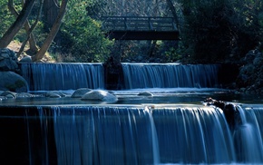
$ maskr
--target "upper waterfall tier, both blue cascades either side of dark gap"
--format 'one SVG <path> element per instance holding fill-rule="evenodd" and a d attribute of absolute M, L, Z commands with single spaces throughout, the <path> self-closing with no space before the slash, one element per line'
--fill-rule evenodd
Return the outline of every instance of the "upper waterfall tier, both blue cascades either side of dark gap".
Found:
<path fill-rule="evenodd" d="M 21 63 L 30 91 L 104 89 L 102 63 Z M 219 65 L 177 63 L 122 63 L 122 89 L 215 88 Z M 123 73 L 123 74 L 122 74 Z M 114 77 L 110 76 L 110 80 Z M 118 81 L 117 81 L 118 82 Z"/>

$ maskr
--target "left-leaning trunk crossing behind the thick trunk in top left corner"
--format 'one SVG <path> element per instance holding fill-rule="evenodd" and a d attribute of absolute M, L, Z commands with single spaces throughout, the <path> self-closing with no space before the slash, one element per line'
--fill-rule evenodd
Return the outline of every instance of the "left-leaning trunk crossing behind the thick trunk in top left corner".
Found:
<path fill-rule="evenodd" d="M 15 15 L 15 18 L 17 18 L 19 13 L 15 10 L 15 7 L 13 4 L 14 4 L 13 0 L 9 0 L 8 1 L 8 9 L 13 15 Z M 37 53 L 38 48 L 37 48 L 35 40 L 34 40 L 34 34 L 29 33 L 30 28 L 31 28 L 31 26 L 30 26 L 28 20 L 26 19 L 26 21 L 24 23 L 24 29 L 26 31 L 26 34 L 30 36 L 29 37 L 29 47 L 33 53 Z"/>

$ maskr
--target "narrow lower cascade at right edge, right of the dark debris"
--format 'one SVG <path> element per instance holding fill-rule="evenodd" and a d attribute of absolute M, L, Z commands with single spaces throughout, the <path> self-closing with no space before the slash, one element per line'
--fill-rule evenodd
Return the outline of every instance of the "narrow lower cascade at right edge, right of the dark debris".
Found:
<path fill-rule="evenodd" d="M 245 163 L 263 162 L 263 108 L 258 106 L 237 107 L 239 125 L 234 131 L 238 160 Z"/>

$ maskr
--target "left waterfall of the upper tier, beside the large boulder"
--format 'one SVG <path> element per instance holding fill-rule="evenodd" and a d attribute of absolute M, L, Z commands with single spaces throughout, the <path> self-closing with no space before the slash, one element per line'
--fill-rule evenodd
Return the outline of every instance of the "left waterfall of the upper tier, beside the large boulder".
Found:
<path fill-rule="evenodd" d="M 31 91 L 103 89 L 102 63 L 21 63 Z"/>

